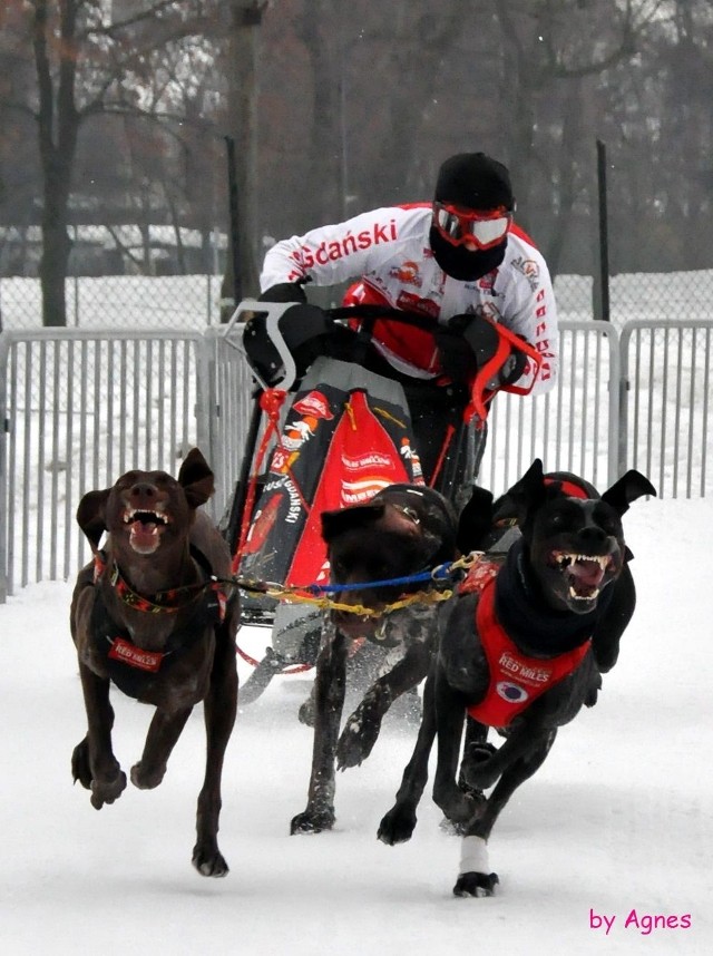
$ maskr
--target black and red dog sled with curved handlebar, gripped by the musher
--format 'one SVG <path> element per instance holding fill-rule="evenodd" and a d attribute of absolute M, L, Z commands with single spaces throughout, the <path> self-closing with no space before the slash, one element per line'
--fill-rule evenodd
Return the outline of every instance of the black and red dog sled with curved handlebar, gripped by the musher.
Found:
<path fill-rule="evenodd" d="M 322 511 L 367 501 L 388 485 L 428 484 L 458 507 L 459 491 L 465 489 L 467 498 L 477 475 L 492 396 L 502 387 L 522 394 L 531 389 L 538 355 L 508 330 L 487 320 L 465 334 L 462 328 L 438 328 L 445 368 L 462 365 L 465 351 L 478 371 L 459 402 L 467 404 L 466 413 L 447 429 L 423 474 L 410 414 L 412 392 L 434 403 L 443 401 L 445 392 L 440 386 L 424 391 L 422 382 L 414 388 L 377 353 L 370 330 L 384 312 L 389 321 L 434 331 L 432 320 L 380 305 L 324 311 L 245 300 L 231 320 L 226 334 L 242 331 L 256 383 L 225 531 L 242 581 L 285 589 L 328 584 Z M 495 386 L 506 363 L 516 381 L 527 362 L 533 370 L 528 387 Z M 456 382 L 455 388 L 465 386 Z M 285 597 L 264 597 L 255 589 L 242 602 L 244 623 L 273 626 L 272 647 L 242 689 L 243 703 L 285 666 L 303 670 L 316 660 L 322 612 Z"/>

